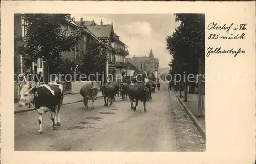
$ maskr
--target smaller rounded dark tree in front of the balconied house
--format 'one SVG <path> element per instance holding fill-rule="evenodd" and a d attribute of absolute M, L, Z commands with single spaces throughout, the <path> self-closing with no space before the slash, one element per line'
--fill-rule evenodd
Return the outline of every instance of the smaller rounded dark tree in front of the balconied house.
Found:
<path fill-rule="evenodd" d="M 106 54 L 107 47 L 105 44 L 99 43 L 96 40 L 90 40 L 87 45 L 88 48 L 79 59 L 78 71 L 81 74 L 85 74 L 87 77 L 90 74 L 96 75 L 97 72 L 98 74 L 102 74 L 102 72 L 105 72 L 106 60 L 108 59 L 108 55 Z M 99 78 L 101 77 L 102 76 L 99 76 Z"/>

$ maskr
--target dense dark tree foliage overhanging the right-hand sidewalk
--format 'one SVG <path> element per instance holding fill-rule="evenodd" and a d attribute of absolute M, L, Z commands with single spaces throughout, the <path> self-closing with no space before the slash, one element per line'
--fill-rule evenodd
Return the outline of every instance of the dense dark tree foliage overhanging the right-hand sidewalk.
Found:
<path fill-rule="evenodd" d="M 198 74 L 199 58 L 204 55 L 204 14 L 175 14 L 181 25 L 166 37 L 167 50 L 173 55 L 173 74 Z M 193 83 L 195 84 L 195 82 Z M 181 85 L 180 85 L 181 86 Z M 190 87 L 194 88 L 194 87 Z"/>

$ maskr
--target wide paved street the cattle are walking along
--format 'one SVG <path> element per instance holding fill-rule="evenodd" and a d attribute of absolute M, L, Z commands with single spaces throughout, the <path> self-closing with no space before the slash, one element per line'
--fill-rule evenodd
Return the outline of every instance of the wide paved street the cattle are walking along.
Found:
<path fill-rule="evenodd" d="M 203 137 L 167 85 L 152 97 L 147 113 L 143 103 L 133 111 L 120 97 L 108 107 L 99 98 L 93 110 L 82 102 L 65 105 L 56 131 L 50 113 L 43 115 L 41 135 L 35 111 L 15 114 L 15 151 L 205 151 Z"/>

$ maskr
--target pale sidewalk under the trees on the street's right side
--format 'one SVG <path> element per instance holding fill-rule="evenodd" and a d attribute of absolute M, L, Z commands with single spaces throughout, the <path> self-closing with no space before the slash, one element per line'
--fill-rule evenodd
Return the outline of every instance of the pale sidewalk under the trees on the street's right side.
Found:
<path fill-rule="evenodd" d="M 194 121 L 195 124 L 198 124 L 196 126 L 199 128 L 200 132 L 204 133 L 203 135 L 205 137 L 205 116 L 198 118 L 198 115 L 200 115 L 200 111 L 198 111 L 198 95 L 196 93 L 194 93 L 194 94 L 188 93 L 187 94 L 187 102 L 184 102 L 185 92 L 184 91 L 181 92 L 182 98 L 180 98 L 179 91 L 177 91 L 175 93 L 176 93 L 176 96 L 178 97 L 178 99 L 180 99 L 179 101 L 184 106 L 184 108 L 187 108 L 188 112 L 189 111 L 191 112 L 190 118 Z M 185 109 L 185 110 L 187 110 L 187 109 Z"/>

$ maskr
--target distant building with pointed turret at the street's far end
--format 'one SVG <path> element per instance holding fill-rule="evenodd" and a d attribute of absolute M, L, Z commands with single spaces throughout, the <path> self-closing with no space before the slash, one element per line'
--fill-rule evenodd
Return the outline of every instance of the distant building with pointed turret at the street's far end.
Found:
<path fill-rule="evenodd" d="M 147 56 L 134 56 L 130 59 L 130 62 L 140 70 L 158 72 L 159 60 L 154 57 L 152 49 L 150 55 Z"/>

